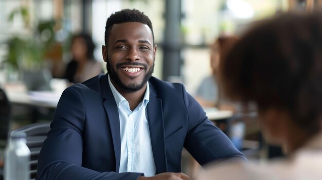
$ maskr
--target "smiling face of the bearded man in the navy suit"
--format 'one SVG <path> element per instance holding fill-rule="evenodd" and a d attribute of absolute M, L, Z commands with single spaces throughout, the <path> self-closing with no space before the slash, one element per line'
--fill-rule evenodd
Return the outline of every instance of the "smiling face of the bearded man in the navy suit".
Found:
<path fill-rule="evenodd" d="M 111 81 L 118 91 L 135 92 L 152 76 L 156 46 L 150 28 L 141 23 L 114 24 L 102 54 Z"/>

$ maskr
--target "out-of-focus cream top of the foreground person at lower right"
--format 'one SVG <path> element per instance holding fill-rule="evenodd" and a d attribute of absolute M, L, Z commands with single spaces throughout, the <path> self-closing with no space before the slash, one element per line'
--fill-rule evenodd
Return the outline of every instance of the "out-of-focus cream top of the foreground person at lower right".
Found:
<path fill-rule="evenodd" d="M 271 162 L 249 162 L 249 167 L 237 164 L 206 168 L 197 180 L 317 180 L 322 179 L 322 132 L 311 138 L 289 158 Z"/>

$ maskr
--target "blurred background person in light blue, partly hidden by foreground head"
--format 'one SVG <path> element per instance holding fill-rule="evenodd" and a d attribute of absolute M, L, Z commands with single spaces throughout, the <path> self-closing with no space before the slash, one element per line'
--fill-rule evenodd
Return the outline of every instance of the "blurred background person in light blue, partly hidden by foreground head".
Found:
<path fill-rule="evenodd" d="M 220 82 L 218 82 L 218 65 L 222 57 L 237 40 L 238 37 L 235 35 L 221 35 L 211 45 L 210 67 L 212 73 L 202 80 L 194 96 L 201 106 L 235 111 L 234 105 L 225 101 L 222 97 Z"/>

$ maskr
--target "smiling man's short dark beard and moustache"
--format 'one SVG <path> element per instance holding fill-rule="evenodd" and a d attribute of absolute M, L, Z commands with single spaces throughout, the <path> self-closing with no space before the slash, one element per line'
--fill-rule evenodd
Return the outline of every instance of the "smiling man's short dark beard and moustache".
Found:
<path fill-rule="evenodd" d="M 116 69 L 119 69 L 121 66 L 124 65 L 133 65 L 133 66 L 144 66 L 145 69 L 144 71 L 147 71 L 147 65 L 146 64 L 141 64 L 141 63 L 131 63 L 131 62 L 127 62 L 127 63 L 121 63 L 121 64 L 117 64 L 116 65 Z M 121 90 L 125 91 L 125 92 L 136 92 L 140 89 L 142 89 L 144 87 L 144 85 L 149 81 L 150 77 L 153 74 L 154 71 L 154 62 L 153 65 L 150 67 L 149 71 L 145 74 L 142 82 L 140 84 L 136 84 L 136 83 L 130 83 L 130 85 L 124 85 L 119 78 L 118 72 L 115 71 L 111 65 L 109 64 L 109 61 L 106 62 L 106 69 L 108 70 L 109 74 L 110 74 L 110 78 L 113 80 L 113 82 L 115 82 L 117 84 L 118 87 L 121 88 Z M 132 79 L 134 79 L 135 77 L 133 77 Z"/>

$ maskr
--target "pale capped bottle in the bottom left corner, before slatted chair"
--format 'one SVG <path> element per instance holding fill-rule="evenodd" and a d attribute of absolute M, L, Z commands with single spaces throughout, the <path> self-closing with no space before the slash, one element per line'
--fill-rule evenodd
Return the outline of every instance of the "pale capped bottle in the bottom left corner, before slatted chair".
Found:
<path fill-rule="evenodd" d="M 5 150 L 5 180 L 30 179 L 30 150 L 26 145 L 26 134 L 11 133 Z"/>

